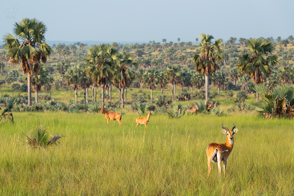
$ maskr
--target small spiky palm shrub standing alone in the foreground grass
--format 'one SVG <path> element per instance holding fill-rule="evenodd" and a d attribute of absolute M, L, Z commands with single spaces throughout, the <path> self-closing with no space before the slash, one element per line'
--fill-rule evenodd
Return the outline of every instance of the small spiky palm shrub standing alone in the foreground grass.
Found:
<path fill-rule="evenodd" d="M 44 126 L 40 125 L 36 128 L 28 131 L 26 136 L 26 144 L 30 147 L 48 147 L 52 145 L 57 145 L 58 139 L 65 137 L 62 134 L 56 134 L 54 136 L 50 135 L 48 132 L 48 128 L 44 129 Z M 51 136 L 51 137 L 50 137 Z"/>

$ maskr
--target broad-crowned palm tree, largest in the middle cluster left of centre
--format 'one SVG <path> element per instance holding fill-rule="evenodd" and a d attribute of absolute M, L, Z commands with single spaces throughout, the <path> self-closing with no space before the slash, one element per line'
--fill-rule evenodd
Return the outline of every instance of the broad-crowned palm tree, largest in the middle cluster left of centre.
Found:
<path fill-rule="evenodd" d="M 101 104 L 104 105 L 104 88 L 115 74 L 114 66 L 118 52 L 109 44 L 93 45 L 88 49 L 86 73 L 94 84 L 101 87 Z"/>

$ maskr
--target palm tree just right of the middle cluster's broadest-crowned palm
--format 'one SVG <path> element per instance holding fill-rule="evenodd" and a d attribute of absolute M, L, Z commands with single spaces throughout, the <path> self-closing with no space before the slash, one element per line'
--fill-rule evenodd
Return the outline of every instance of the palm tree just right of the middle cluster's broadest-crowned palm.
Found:
<path fill-rule="evenodd" d="M 135 73 L 131 70 L 132 66 L 137 68 L 137 63 L 134 61 L 134 56 L 129 52 L 119 52 L 116 61 L 116 74 L 114 83 L 121 89 L 121 104 L 124 109 L 123 92 L 135 78 Z M 127 95 L 126 95 L 127 96 Z"/>

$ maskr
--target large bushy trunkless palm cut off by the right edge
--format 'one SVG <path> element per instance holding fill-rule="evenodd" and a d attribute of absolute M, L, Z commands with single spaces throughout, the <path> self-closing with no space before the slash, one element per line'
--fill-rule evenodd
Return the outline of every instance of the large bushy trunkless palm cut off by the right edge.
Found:
<path fill-rule="evenodd" d="M 259 94 L 259 99 L 252 103 L 258 116 L 267 119 L 294 117 L 294 87 L 292 85 L 279 84 L 268 89 L 264 84 L 258 84 L 254 90 Z"/>

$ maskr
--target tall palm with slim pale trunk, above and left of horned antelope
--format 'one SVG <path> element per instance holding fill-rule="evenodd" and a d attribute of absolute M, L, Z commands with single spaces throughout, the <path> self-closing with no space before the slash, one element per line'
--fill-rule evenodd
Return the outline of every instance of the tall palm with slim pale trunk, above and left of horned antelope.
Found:
<path fill-rule="evenodd" d="M 214 44 L 210 44 L 211 40 L 214 39 L 211 35 L 202 33 L 199 36 L 201 40 L 201 46 L 197 49 L 201 50 L 200 54 L 195 54 L 193 61 L 195 69 L 199 74 L 205 74 L 205 101 L 208 100 L 208 85 L 209 76 L 212 72 L 219 69 L 218 62 L 222 62 L 222 39 L 215 40 Z"/>

